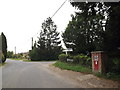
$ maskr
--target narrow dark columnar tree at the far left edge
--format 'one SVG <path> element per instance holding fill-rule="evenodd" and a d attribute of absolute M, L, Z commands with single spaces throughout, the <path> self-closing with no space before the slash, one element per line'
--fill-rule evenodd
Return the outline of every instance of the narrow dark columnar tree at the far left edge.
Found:
<path fill-rule="evenodd" d="M 2 42 L 2 53 L 4 55 L 4 58 L 2 58 L 2 63 L 4 63 L 7 57 L 7 40 L 3 32 L 1 33 L 1 38 L 2 38 L 2 41 L 0 42 Z"/>

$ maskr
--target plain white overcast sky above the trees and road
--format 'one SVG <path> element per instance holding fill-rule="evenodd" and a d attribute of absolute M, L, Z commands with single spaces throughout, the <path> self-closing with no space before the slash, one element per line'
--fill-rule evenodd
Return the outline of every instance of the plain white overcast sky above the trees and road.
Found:
<path fill-rule="evenodd" d="M 0 0 L 0 32 L 7 37 L 8 50 L 27 52 L 31 49 L 31 37 L 38 36 L 41 24 L 51 17 L 65 0 Z M 74 7 L 67 1 L 52 18 L 63 32 Z"/>

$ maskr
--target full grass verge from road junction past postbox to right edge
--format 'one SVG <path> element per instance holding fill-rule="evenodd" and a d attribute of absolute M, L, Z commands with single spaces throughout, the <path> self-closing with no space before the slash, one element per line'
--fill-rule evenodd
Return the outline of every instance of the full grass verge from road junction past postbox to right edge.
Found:
<path fill-rule="evenodd" d="M 56 63 L 53 64 L 55 67 L 59 67 L 61 69 L 65 70 L 72 70 L 76 72 L 83 72 L 83 73 L 89 73 L 89 74 L 94 74 L 97 77 L 104 78 L 104 79 L 110 79 L 114 81 L 120 81 L 120 75 L 114 74 L 114 73 L 107 73 L 107 74 L 100 74 L 100 73 L 92 73 L 92 69 L 81 66 L 81 65 L 74 65 L 74 64 L 69 64 L 65 62 L 60 62 L 57 61 Z"/>

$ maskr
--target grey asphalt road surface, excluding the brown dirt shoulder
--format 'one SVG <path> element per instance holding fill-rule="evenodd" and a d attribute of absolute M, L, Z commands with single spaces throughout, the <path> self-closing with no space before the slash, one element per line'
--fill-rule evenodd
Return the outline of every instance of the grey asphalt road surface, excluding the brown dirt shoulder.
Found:
<path fill-rule="evenodd" d="M 72 82 L 46 68 L 45 63 L 7 59 L 2 67 L 2 88 L 75 88 Z"/>

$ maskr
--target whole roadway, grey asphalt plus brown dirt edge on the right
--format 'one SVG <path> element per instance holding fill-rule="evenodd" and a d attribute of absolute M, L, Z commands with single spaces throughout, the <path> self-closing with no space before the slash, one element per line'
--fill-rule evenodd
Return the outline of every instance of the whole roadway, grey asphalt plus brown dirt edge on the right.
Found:
<path fill-rule="evenodd" d="M 7 59 L 2 66 L 2 88 L 118 88 L 116 81 L 52 66 L 55 62 Z"/>

